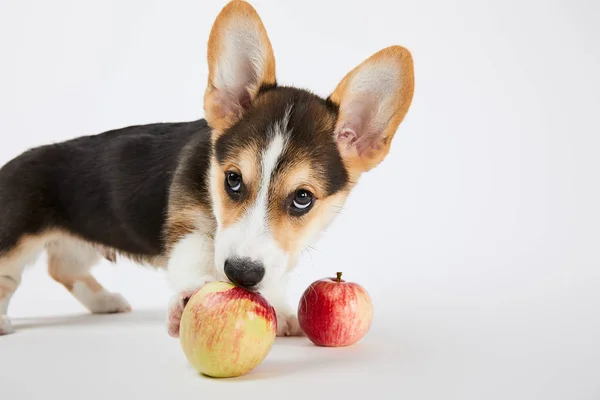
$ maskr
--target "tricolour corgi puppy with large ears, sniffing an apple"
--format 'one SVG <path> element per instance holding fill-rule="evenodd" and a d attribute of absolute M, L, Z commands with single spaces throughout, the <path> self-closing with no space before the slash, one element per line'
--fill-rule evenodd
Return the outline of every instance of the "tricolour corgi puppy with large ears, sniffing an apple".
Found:
<path fill-rule="evenodd" d="M 130 310 L 90 273 L 104 257 L 166 268 L 178 336 L 207 282 L 259 291 L 278 335 L 301 335 L 285 282 L 361 175 L 388 154 L 413 97 L 413 61 L 391 46 L 319 97 L 279 85 L 255 9 L 231 1 L 208 39 L 204 118 L 130 126 L 25 151 L 0 169 L 0 334 L 23 269 L 48 271 L 92 313 Z"/>

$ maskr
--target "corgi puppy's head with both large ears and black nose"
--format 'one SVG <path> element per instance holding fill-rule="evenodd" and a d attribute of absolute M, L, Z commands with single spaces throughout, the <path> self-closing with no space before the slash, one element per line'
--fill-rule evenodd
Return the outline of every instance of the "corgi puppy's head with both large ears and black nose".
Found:
<path fill-rule="evenodd" d="M 412 59 L 402 47 L 383 49 L 326 99 L 280 87 L 259 16 L 233 1 L 211 31 L 208 65 L 215 267 L 261 289 L 295 264 L 360 175 L 387 155 L 412 100 Z"/>

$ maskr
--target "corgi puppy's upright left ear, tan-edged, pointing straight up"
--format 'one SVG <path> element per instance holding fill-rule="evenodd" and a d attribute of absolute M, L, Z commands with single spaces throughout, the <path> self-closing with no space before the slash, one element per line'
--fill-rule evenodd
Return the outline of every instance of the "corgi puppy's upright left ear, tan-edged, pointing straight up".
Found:
<path fill-rule="evenodd" d="M 275 83 L 275 57 L 260 17 L 245 1 L 231 1 L 217 16 L 208 39 L 206 120 L 217 130 L 227 129 L 262 85 Z"/>

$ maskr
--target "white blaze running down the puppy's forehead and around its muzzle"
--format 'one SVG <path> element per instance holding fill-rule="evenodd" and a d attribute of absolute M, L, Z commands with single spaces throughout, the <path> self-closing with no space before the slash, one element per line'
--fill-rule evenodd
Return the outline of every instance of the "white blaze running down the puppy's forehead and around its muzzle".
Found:
<path fill-rule="evenodd" d="M 235 224 L 222 229 L 219 223 L 215 237 L 215 267 L 222 278 L 225 277 L 225 261 L 230 258 L 248 258 L 262 264 L 265 276 L 259 284 L 261 288 L 278 282 L 288 267 L 290 256 L 275 241 L 267 215 L 271 175 L 286 147 L 283 132 L 287 128 L 288 115 L 270 132 L 271 141 L 260 155 L 260 186 L 255 202 Z"/>

